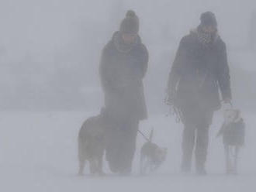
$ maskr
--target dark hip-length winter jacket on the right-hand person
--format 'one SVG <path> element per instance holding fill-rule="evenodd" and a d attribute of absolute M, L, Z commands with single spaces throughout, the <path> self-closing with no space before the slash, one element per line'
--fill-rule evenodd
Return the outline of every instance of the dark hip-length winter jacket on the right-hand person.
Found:
<path fill-rule="evenodd" d="M 169 98 L 177 108 L 220 108 L 222 98 L 231 99 L 226 45 L 220 36 L 203 45 L 192 31 L 182 38 L 168 81 Z"/>

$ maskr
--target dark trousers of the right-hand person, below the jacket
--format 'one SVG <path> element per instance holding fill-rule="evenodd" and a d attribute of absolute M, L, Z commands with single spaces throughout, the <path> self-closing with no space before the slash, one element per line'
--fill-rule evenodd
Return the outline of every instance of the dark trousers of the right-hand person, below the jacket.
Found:
<path fill-rule="evenodd" d="M 195 168 L 203 170 L 209 143 L 209 125 L 213 111 L 202 108 L 185 108 L 183 111 L 184 131 L 182 138 L 182 169 L 190 170 L 195 150 Z"/>

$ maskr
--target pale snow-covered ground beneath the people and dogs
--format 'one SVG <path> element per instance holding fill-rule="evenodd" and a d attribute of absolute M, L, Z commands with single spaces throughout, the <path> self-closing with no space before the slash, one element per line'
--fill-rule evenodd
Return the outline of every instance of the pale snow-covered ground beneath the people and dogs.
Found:
<path fill-rule="evenodd" d="M 216 114 L 210 130 L 209 175 L 179 173 L 182 125 L 172 117 L 156 115 L 142 122 L 140 129 L 154 141 L 168 147 L 168 159 L 157 173 L 138 174 L 138 156 L 132 177 L 77 177 L 77 135 L 81 123 L 96 112 L 1 112 L 0 115 L 0 191 L 227 191 L 256 190 L 255 115 L 244 115 L 247 142 L 240 154 L 240 174 L 224 174 L 223 146 L 215 135 L 221 113 Z M 138 135 L 137 147 L 144 139 Z M 105 166 L 108 171 L 108 167 Z M 88 171 L 88 170 L 87 170 Z"/>

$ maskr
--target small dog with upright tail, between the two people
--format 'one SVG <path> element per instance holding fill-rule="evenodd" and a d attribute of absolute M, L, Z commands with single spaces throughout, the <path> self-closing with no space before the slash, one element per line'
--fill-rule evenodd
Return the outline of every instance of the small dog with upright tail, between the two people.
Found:
<path fill-rule="evenodd" d="M 152 142 L 153 131 L 150 139 L 140 150 L 140 174 L 145 174 L 157 170 L 167 156 L 167 148 L 161 148 Z"/>

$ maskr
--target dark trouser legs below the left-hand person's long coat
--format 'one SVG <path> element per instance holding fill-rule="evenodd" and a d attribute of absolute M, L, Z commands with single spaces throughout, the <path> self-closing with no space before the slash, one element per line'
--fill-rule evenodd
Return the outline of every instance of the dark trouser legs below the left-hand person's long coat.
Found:
<path fill-rule="evenodd" d="M 123 120 L 111 124 L 107 132 L 106 160 L 113 173 L 129 174 L 132 171 L 139 122 Z"/>

